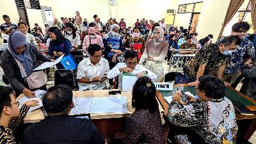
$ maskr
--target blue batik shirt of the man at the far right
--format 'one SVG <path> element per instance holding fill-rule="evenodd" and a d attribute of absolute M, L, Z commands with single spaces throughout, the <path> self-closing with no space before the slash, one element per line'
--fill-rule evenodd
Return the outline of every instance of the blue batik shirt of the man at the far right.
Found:
<path fill-rule="evenodd" d="M 222 40 L 223 38 L 218 40 L 217 43 L 220 43 Z M 232 52 L 230 65 L 225 68 L 224 74 L 234 74 L 239 72 L 244 63 L 243 59 L 252 59 L 254 57 L 255 49 L 253 47 L 253 43 L 247 38 L 243 38 L 239 47 Z"/>

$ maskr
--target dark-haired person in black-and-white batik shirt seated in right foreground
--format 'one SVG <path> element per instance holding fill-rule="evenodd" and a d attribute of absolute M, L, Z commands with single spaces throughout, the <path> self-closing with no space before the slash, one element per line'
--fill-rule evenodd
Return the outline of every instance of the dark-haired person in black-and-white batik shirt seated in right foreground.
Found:
<path fill-rule="evenodd" d="M 236 143 L 236 114 L 225 97 L 224 83 L 214 76 L 202 76 L 195 89 L 198 99 L 187 95 L 187 104 L 180 91 L 173 94 L 167 116 L 177 143 Z"/>

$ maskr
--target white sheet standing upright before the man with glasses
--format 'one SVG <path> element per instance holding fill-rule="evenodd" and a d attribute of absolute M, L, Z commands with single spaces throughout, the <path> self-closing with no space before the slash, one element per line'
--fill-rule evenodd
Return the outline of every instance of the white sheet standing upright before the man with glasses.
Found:
<path fill-rule="evenodd" d="M 122 77 L 122 92 L 132 92 L 134 83 L 137 81 L 137 76 L 123 76 Z"/>

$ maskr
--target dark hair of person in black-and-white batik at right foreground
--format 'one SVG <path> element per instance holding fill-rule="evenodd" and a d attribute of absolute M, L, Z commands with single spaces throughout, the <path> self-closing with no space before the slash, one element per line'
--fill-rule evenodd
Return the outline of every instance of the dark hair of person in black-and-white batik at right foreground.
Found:
<path fill-rule="evenodd" d="M 225 97 L 225 85 L 220 79 L 214 76 L 199 77 L 198 89 L 205 92 L 205 96 L 212 99 L 221 99 Z"/>

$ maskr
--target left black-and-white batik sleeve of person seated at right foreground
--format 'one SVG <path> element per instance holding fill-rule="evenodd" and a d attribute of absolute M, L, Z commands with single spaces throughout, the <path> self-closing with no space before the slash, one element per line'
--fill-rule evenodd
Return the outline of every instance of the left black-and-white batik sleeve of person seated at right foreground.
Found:
<path fill-rule="evenodd" d="M 176 101 L 172 101 L 168 109 L 168 119 L 172 124 L 182 127 L 201 125 L 204 122 L 203 116 L 206 113 L 206 108 L 205 102 L 181 105 Z"/>

